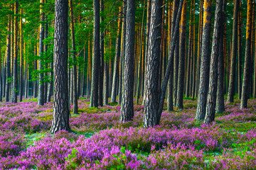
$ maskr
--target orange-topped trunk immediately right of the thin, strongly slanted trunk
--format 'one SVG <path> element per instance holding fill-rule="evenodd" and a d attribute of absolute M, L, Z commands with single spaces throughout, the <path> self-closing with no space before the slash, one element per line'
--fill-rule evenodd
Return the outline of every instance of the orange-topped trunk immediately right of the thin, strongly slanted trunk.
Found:
<path fill-rule="evenodd" d="M 181 34 L 179 41 L 179 61 L 185 61 L 185 44 L 186 44 L 186 5 L 184 0 L 181 16 Z M 184 73 L 185 63 L 178 62 L 178 89 L 177 89 L 177 108 L 183 109 L 183 87 L 184 87 Z M 187 82 L 188 83 L 188 82 Z"/>

